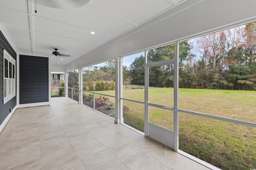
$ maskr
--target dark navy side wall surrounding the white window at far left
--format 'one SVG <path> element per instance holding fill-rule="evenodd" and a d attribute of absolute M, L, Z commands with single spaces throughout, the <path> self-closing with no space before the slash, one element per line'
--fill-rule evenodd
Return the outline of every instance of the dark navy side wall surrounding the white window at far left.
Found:
<path fill-rule="evenodd" d="M 2 32 L 0 31 L 0 125 L 4 119 L 10 113 L 10 108 L 13 109 L 16 106 L 16 97 L 13 97 L 10 101 L 4 104 L 4 89 L 3 89 L 3 50 L 6 50 L 15 60 L 16 53 L 12 49 L 11 45 L 8 43 Z M 17 65 L 17 64 L 16 64 Z M 16 66 L 17 68 L 17 66 Z M 17 69 L 16 69 L 17 70 Z M 17 79 L 17 77 L 16 77 Z M 16 90 L 17 91 L 17 90 Z"/>

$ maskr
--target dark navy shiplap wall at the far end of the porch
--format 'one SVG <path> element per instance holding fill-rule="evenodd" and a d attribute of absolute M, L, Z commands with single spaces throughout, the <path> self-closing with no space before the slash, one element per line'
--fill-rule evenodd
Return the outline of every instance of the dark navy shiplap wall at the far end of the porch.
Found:
<path fill-rule="evenodd" d="M 49 101 L 48 58 L 20 55 L 20 104 Z"/>

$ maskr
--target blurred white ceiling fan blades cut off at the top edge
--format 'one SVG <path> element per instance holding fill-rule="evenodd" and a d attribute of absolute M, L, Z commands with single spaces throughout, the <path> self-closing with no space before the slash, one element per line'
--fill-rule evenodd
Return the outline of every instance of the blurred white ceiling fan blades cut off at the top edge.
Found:
<path fill-rule="evenodd" d="M 90 0 L 37 0 L 36 3 L 49 8 L 64 8 L 65 6 L 72 6 L 74 8 L 81 8 L 85 6 Z"/>

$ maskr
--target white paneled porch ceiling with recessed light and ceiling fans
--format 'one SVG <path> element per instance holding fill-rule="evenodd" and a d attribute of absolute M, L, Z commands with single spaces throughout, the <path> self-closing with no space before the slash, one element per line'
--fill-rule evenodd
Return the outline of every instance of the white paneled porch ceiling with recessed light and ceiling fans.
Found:
<path fill-rule="evenodd" d="M 19 54 L 50 56 L 52 63 L 54 48 L 71 55 L 58 56 L 64 65 L 187 0 L 90 0 L 79 7 L 72 1 L 0 0 L 2 31 Z"/>

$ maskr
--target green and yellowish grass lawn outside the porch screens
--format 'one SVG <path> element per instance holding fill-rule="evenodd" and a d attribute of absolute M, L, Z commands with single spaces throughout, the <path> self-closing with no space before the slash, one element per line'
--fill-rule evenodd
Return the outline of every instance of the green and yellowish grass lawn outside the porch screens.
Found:
<path fill-rule="evenodd" d="M 114 91 L 100 93 L 114 95 Z M 144 101 L 144 89 L 123 90 Z M 173 89 L 149 89 L 150 103 L 173 106 Z M 144 131 L 144 105 L 123 101 L 124 122 Z M 179 109 L 256 123 L 256 91 L 179 89 Z M 151 108 L 150 122 L 173 129 L 173 112 Z M 256 168 L 256 128 L 179 113 L 179 148 L 221 169 Z"/>

